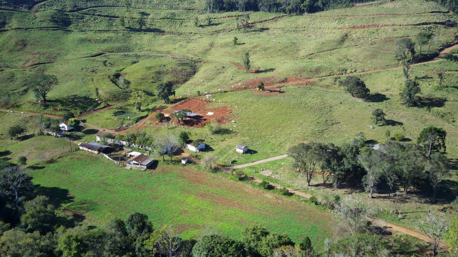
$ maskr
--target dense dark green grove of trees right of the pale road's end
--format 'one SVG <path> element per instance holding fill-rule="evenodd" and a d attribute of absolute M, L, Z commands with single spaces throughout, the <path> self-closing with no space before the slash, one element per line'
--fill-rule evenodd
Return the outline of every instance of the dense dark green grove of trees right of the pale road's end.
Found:
<path fill-rule="evenodd" d="M 448 174 L 445 151 L 447 133 L 441 128 L 429 126 L 423 129 L 417 144 L 387 141 L 380 149 L 365 145 L 364 135 L 341 146 L 318 142 L 300 143 L 288 150 L 293 166 L 300 172 L 307 186 L 315 176 L 321 176 L 334 187 L 343 182 L 360 182 L 372 197 L 377 185 L 384 182 L 392 191 L 412 189 L 436 198 L 439 184 Z M 317 173 L 317 171 L 320 171 Z"/>

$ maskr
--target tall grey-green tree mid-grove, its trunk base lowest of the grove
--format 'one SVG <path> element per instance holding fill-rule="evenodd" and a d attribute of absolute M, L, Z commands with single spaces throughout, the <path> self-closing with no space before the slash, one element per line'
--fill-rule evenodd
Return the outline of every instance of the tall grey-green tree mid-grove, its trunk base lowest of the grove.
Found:
<path fill-rule="evenodd" d="M 380 151 L 365 152 L 359 156 L 361 166 L 366 171 L 366 175 L 363 177 L 363 186 L 366 192 L 369 192 L 370 197 L 376 189 L 377 184 L 380 182 L 382 172 L 380 164 L 382 162 L 382 156 Z"/>

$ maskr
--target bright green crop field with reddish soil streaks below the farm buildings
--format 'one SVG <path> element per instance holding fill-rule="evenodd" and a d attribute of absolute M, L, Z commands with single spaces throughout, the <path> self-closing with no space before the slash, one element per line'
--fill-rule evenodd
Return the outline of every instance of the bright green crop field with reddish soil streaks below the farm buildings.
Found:
<path fill-rule="evenodd" d="M 333 232 L 327 212 L 192 167 L 125 170 L 80 151 L 33 171 L 33 177 L 41 192 L 59 192 L 50 197 L 63 210 L 84 214 L 93 224 L 138 211 L 155 227 L 175 225 L 184 238 L 192 238 L 206 226 L 240 237 L 242 228 L 256 223 L 294 241 L 310 236 L 319 249 Z"/>

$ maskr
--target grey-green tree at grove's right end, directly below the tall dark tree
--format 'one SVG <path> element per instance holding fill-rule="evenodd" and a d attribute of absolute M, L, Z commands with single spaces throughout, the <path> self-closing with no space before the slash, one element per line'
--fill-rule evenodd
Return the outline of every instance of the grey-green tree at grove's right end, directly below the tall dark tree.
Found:
<path fill-rule="evenodd" d="M 432 198 L 436 199 L 439 183 L 449 173 L 447 169 L 447 157 L 441 153 L 433 153 L 427 161 L 426 173 L 431 182 Z"/>

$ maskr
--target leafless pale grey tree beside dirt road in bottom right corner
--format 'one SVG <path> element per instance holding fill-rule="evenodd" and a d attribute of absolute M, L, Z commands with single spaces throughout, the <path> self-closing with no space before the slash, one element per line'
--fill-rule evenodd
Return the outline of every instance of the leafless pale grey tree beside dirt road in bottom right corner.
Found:
<path fill-rule="evenodd" d="M 442 213 L 434 213 L 429 211 L 426 216 L 426 224 L 420 225 L 421 230 L 427 237 L 431 239 L 431 250 L 434 256 L 437 255 L 438 250 L 441 248 L 441 241 L 446 234 L 448 222 Z"/>

